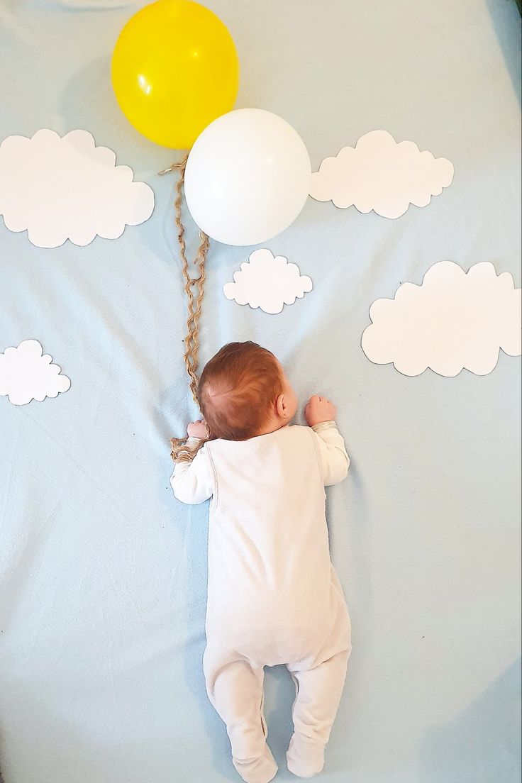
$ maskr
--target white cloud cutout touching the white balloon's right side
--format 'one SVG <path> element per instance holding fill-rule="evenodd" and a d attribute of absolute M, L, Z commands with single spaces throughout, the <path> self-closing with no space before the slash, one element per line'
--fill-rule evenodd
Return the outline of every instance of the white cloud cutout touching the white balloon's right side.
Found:
<path fill-rule="evenodd" d="M 326 157 L 311 175 L 310 195 L 332 200 L 336 207 L 375 211 L 383 218 L 400 218 L 410 204 L 427 207 L 432 196 L 451 185 L 453 164 L 413 142 L 396 143 L 387 131 L 371 131 L 355 147 Z"/>

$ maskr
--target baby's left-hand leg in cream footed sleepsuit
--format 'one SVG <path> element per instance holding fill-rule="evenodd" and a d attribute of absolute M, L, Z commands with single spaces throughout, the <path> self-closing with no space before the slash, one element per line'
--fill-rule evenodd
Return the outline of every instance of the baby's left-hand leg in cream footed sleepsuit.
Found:
<path fill-rule="evenodd" d="M 208 697 L 226 724 L 234 767 L 247 783 L 268 783 L 277 764 L 266 744 L 265 669 L 233 653 L 214 653 L 210 647 L 205 651 L 203 669 Z"/>

